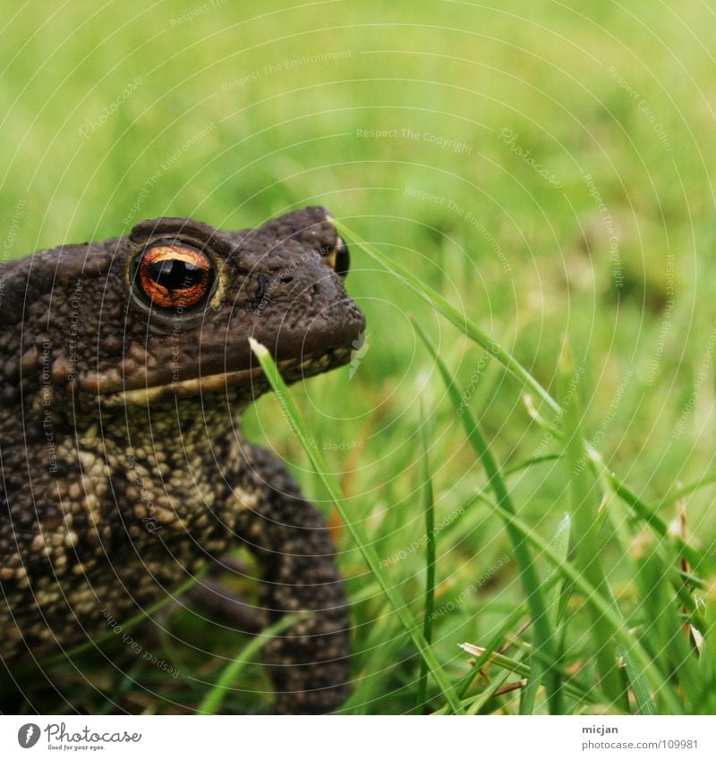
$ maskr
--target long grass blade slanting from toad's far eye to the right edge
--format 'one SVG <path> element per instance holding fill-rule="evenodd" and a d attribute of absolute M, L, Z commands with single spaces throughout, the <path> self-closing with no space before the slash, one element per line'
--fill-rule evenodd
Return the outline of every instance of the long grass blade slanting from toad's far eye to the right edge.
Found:
<path fill-rule="evenodd" d="M 523 367 L 511 353 L 509 353 L 509 351 L 502 348 L 499 342 L 492 340 L 490 335 L 483 332 L 482 329 L 480 329 L 480 327 L 471 319 L 468 319 L 455 307 L 451 306 L 438 291 L 433 290 L 429 285 L 423 283 L 419 277 L 412 274 L 404 266 L 401 266 L 390 257 L 381 253 L 375 248 L 375 246 L 371 245 L 371 243 L 362 240 L 362 238 L 355 234 L 355 232 L 352 232 L 343 222 L 339 222 L 337 219 L 332 219 L 331 222 L 345 240 L 355 243 L 373 260 L 377 261 L 381 266 L 385 266 L 389 272 L 401 277 L 411 290 L 430 303 L 430 305 L 440 314 L 445 316 L 448 321 L 460 328 L 473 342 L 476 342 L 484 350 L 487 350 L 492 356 L 497 358 L 512 375 L 516 376 L 516 378 L 524 384 L 525 388 L 532 391 L 534 395 L 541 399 L 541 401 L 543 401 L 554 413 L 560 416 L 564 413 L 558 402 L 552 398 L 550 393 L 541 386 L 533 375 L 531 375 L 529 371 Z M 704 563 L 709 567 L 714 567 L 716 561 L 714 561 L 708 554 L 696 551 L 695 548 L 686 544 L 678 536 L 669 534 L 668 528 L 655 514 L 652 507 L 647 506 L 635 495 L 626 483 L 607 467 L 601 459 L 599 451 L 596 451 L 591 445 L 588 445 L 587 451 L 589 452 L 594 465 L 601 468 L 604 475 L 609 478 L 609 482 L 619 498 L 634 510 L 641 519 L 644 519 L 647 524 L 659 534 L 659 536 L 678 544 L 679 549 L 684 553 L 686 559 L 691 562 L 695 569 L 702 566 Z"/>

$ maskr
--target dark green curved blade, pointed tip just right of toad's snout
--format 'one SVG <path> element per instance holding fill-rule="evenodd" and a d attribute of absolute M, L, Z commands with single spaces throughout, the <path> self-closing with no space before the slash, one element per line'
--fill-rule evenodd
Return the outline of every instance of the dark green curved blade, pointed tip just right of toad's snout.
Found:
<path fill-rule="evenodd" d="M 422 330 L 421 325 L 419 325 L 414 319 L 413 325 L 415 325 L 415 329 L 420 335 L 422 342 L 430 351 L 431 357 L 435 360 L 436 366 L 439 369 L 440 375 L 442 375 L 443 381 L 447 387 L 447 393 L 450 396 L 453 405 L 456 409 L 462 410 L 462 414 L 458 414 L 458 416 L 462 419 L 468 441 L 473 446 L 473 450 L 478 459 L 482 461 L 482 466 L 487 473 L 488 483 L 495 493 L 497 502 L 508 514 L 514 515 L 516 510 L 512 503 L 512 499 L 507 492 L 507 485 L 505 485 L 505 481 L 499 472 L 497 461 L 492 457 L 487 441 L 482 436 L 480 426 L 473 418 L 470 410 L 461 405 L 464 395 L 463 392 L 457 387 L 455 378 L 447 371 L 445 363 L 442 358 L 439 357 L 437 350 L 432 342 L 430 342 L 428 335 Z M 520 580 L 527 599 L 527 605 L 530 608 L 530 614 L 533 620 L 535 650 L 540 652 L 546 662 L 556 663 L 556 646 L 553 639 L 553 629 L 551 628 L 547 617 L 546 606 L 542 595 L 541 580 L 537 574 L 532 554 L 519 533 L 513 529 L 511 519 L 505 519 L 505 527 L 507 529 L 507 535 L 512 543 L 512 550 L 515 554 L 517 569 L 519 571 Z M 548 666 L 544 671 L 543 679 L 547 690 L 548 702 L 550 704 L 550 712 L 558 714 L 561 709 L 558 672 Z"/>

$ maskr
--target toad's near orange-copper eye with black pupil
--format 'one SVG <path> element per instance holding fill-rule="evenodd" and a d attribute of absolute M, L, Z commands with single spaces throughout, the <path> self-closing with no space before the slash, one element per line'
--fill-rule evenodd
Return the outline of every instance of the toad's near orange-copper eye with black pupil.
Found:
<path fill-rule="evenodd" d="M 201 250 L 181 242 L 156 242 L 137 261 L 137 284 L 160 308 L 189 308 L 204 299 L 214 266 Z"/>

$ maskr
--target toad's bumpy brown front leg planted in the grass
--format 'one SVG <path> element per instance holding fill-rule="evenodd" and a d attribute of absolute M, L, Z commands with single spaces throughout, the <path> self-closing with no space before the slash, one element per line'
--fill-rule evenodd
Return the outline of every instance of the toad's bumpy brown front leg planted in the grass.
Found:
<path fill-rule="evenodd" d="M 311 612 L 264 649 L 277 712 L 334 712 L 350 692 L 350 621 L 328 528 L 268 451 L 251 447 L 251 465 L 266 488 L 237 532 L 260 565 L 260 603 L 271 623 Z"/>

